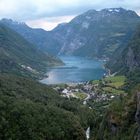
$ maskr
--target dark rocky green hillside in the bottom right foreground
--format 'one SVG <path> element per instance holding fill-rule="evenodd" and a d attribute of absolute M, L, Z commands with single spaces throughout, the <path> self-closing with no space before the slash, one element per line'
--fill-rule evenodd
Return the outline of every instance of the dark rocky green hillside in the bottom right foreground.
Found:
<path fill-rule="evenodd" d="M 133 87 L 126 97 L 110 104 L 102 119 L 97 119 L 91 140 L 139 140 L 139 91 Z"/>

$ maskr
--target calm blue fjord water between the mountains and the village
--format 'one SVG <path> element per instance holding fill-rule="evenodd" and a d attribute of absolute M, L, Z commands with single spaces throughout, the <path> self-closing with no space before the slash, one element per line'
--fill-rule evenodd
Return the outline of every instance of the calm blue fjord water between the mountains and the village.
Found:
<path fill-rule="evenodd" d="M 51 67 L 46 75 L 48 78 L 41 80 L 45 84 L 60 84 L 71 82 L 85 82 L 103 77 L 104 62 L 85 57 L 60 56 L 64 66 Z"/>

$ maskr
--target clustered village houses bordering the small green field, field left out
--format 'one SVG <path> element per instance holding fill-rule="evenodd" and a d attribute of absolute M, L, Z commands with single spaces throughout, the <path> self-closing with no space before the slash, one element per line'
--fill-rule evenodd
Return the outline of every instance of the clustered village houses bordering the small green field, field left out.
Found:
<path fill-rule="evenodd" d="M 66 98 L 78 98 L 75 93 L 86 93 L 87 97 L 84 99 L 83 104 L 86 105 L 87 101 L 90 99 L 94 99 L 95 102 L 101 102 L 101 101 L 107 101 L 113 99 L 115 96 L 111 94 L 104 94 L 104 93 L 95 93 L 94 92 L 94 86 L 93 84 L 87 83 L 70 83 L 64 86 L 63 88 L 61 86 L 54 87 L 55 90 L 57 90 L 61 96 Z"/>

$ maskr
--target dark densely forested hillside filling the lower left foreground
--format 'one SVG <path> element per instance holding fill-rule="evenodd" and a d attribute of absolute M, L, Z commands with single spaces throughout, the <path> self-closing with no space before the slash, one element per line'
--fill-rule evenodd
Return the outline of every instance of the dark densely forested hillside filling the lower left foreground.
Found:
<path fill-rule="evenodd" d="M 0 75 L 0 139 L 85 140 L 94 113 L 26 78 Z"/>

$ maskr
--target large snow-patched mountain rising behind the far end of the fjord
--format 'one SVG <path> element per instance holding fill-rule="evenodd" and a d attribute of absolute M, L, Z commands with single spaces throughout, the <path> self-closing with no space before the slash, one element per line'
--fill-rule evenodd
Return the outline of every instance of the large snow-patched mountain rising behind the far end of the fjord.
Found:
<path fill-rule="evenodd" d="M 52 32 L 61 42 L 60 54 L 102 57 L 125 46 L 138 23 L 140 17 L 131 10 L 89 10 Z"/>

